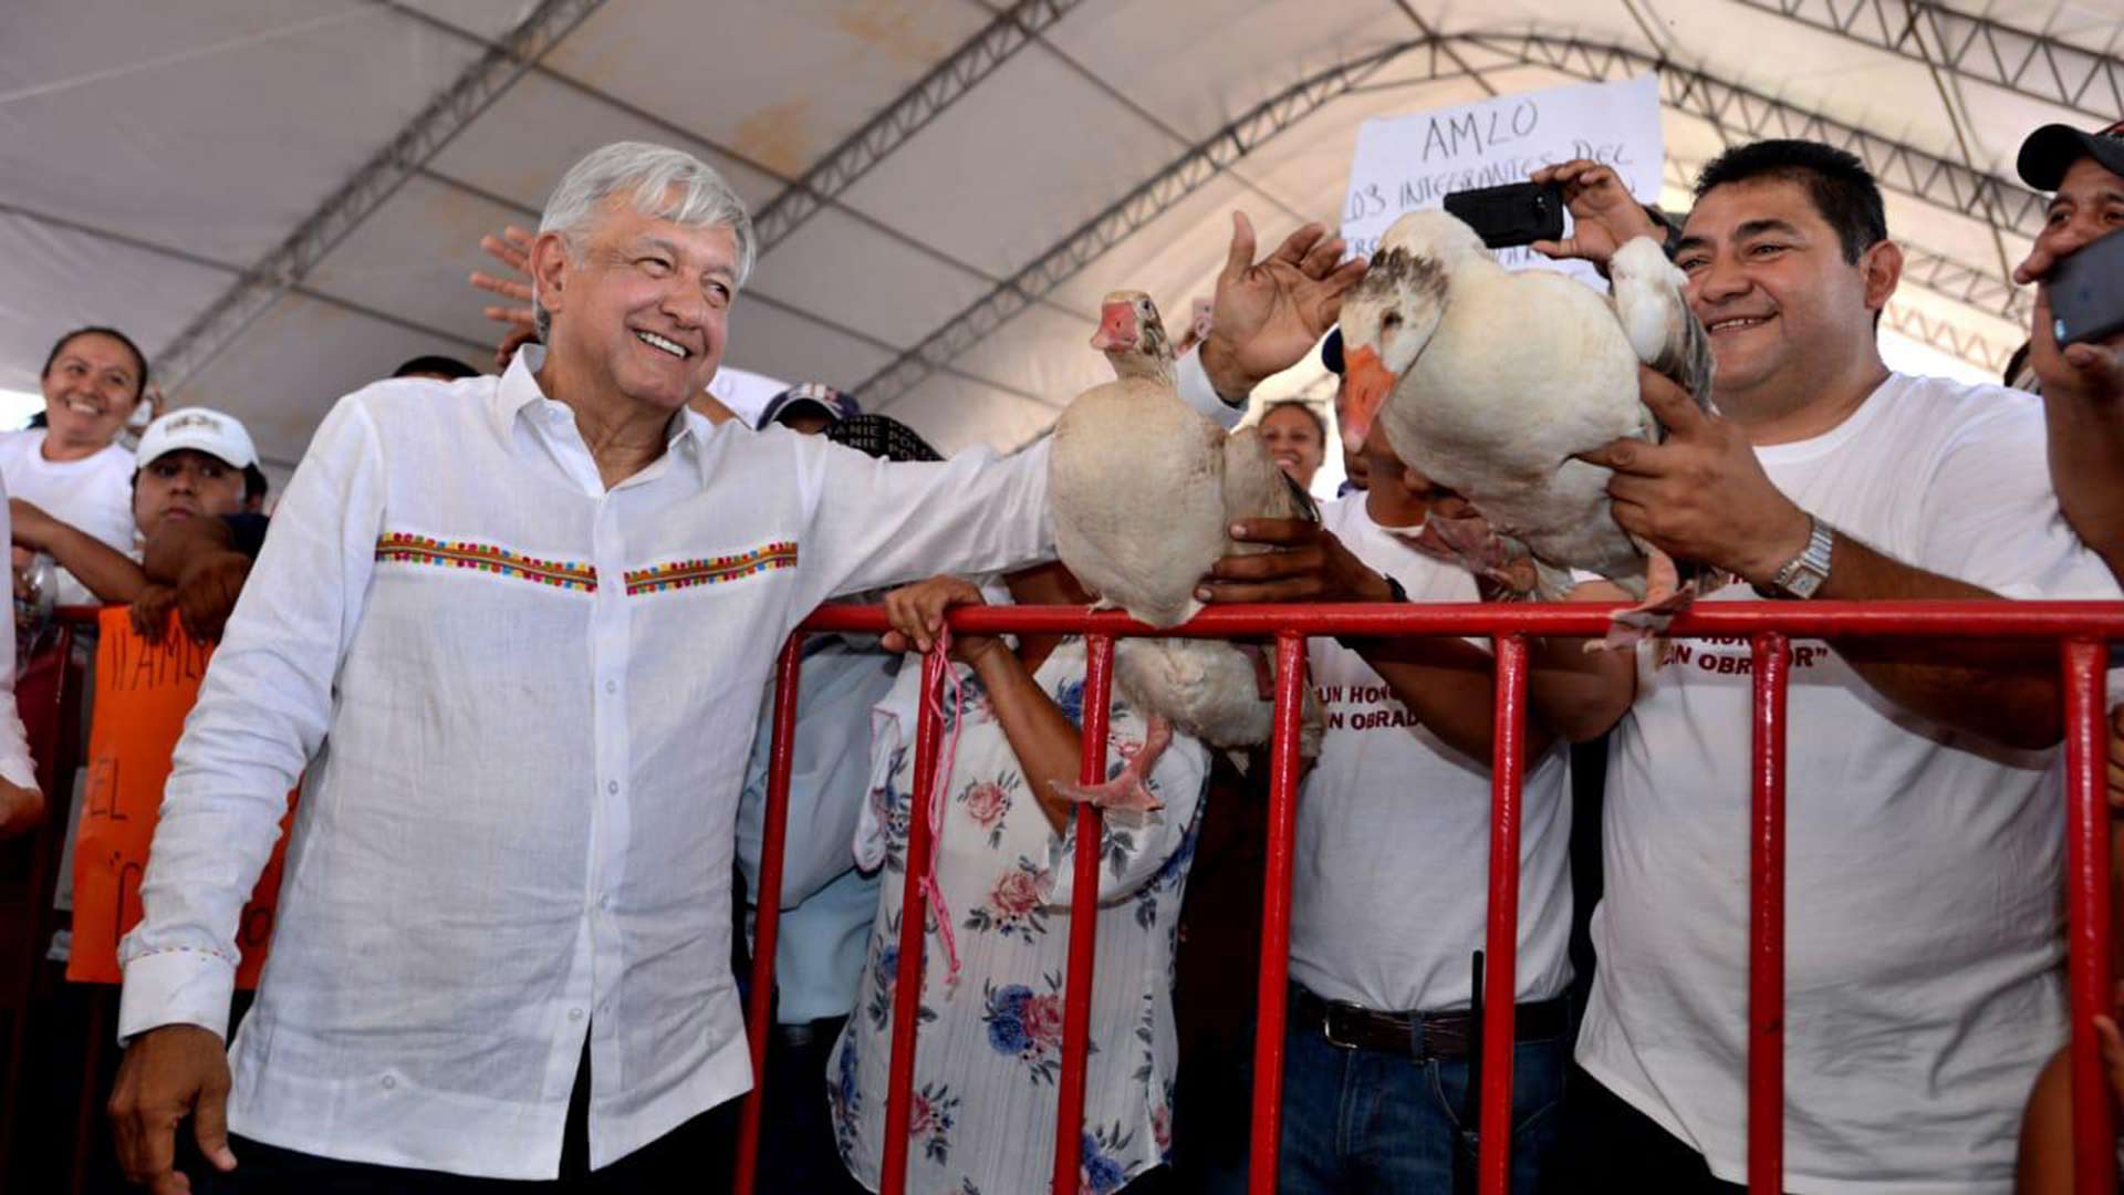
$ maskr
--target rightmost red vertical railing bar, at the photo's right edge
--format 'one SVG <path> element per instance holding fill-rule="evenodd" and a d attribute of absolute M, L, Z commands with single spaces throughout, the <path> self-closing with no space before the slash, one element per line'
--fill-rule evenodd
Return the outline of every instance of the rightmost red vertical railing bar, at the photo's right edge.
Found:
<path fill-rule="evenodd" d="M 2094 1016 L 2111 1012 L 2109 984 L 2109 804 L 2101 642 L 2073 638 L 2062 651 L 2065 689 L 2065 878 L 2067 980 L 2073 1008 L 2073 1191 L 2116 1191 L 2109 1076 Z"/>

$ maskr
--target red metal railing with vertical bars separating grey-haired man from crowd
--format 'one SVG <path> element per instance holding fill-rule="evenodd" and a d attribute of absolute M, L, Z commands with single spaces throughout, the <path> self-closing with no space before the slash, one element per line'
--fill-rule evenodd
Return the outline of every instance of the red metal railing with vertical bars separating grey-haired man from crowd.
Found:
<path fill-rule="evenodd" d="M 1519 929 L 1519 823 L 1527 710 L 1527 636 L 1597 638 L 1608 629 L 1601 606 L 1223 606 L 1198 615 L 1177 632 L 1153 632 L 1117 612 L 1094 615 L 1081 606 L 962 608 L 949 615 L 962 634 L 1081 634 L 1085 636 L 1083 780 L 1104 778 L 1107 710 L 1113 693 L 1113 640 L 1183 634 L 1187 638 L 1277 640 L 1277 717 L 1270 748 L 1268 880 L 1262 893 L 1260 1029 L 1253 1042 L 1253 1129 L 1249 1191 L 1277 1189 L 1277 1144 L 1283 1112 L 1283 1021 L 1291 929 L 1291 840 L 1298 825 L 1298 717 L 1304 693 L 1306 638 L 1311 636 L 1489 636 L 1495 644 L 1495 757 L 1491 770 L 1489 931 L 1483 1004 L 1512 1008 L 1517 995 L 1514 946 Z M 760 846 L 760 889 L 782 891 L 782 842 L 788 827 L 790 731 L 796 719 L 796 661 L 803 632 L 881 632 L 877 606 L 824 606 L 782 649 L 773 712 L 773 753 L 767 782 L 767 825 Z M 2109 810 L 2103 761 L 2107 731 L 2107 640 L 2124 638 L 2124 602 L 1812 602 L 1701 604 L 1678 619 L 1674 638 L 1740 636 L 1750 640 L 1754 680 L 1754 751 L 1750 761 L 1750 916 L 1748 916 L 1748 1191 L 1763 1195 L 1784 1184 L 1784 695 L 1791 638 L 1977 638 L 2056 640 L 2065 691 L 2065 795 L 2067 795 L 2067 938 L 2071 993 L 2073 1174 L 2079 1195 L 2116 1191 L 2116 1150 L 2109 1080 L 2092 1019 L 2109 1010 Z M 922 666 L 928 691 L 943 680 L 945 659 L 930 653 Z M 941 719 L 922 702 L 915 725 L 915 776 L 930 776 L 941 742 Z M 1083 1131 L 1085 1036 L 1092 1012 L 1092 933 L 1098 921 L 1098 812 L 1077 810 L 1077 887 L 1070 904 L 1068 976 L 1064 997 L 1062 1074 L 1056 1084 L 1054 1191 L 1079 1189 Z M 918 878 L 928 868 L 928 819 L 909 819 L 907 889 L 901 916 L 898 976 L 892 1002 L 892 1067 L 886 1101 L 881 1184 L 886 1195 L 907 1189 L 907 1127 L 913 1104 L 915 1012 L 922 987 L 924 904 Z M 758 1135 L 769 1076 L 767 1021 L 775 959 L 773 899 L 758 908 L 750 1046 L 754 1089 L 746 1097 L 737 1180 L 750 1195 L 758 1172 Z M 1512 1165 L 1512 1019 L 1483 1021 L 1480 1152 L 1483 1195 L 1510 1191 Z M 796 1082 L 818 1082 L 799 1076 Z"/>

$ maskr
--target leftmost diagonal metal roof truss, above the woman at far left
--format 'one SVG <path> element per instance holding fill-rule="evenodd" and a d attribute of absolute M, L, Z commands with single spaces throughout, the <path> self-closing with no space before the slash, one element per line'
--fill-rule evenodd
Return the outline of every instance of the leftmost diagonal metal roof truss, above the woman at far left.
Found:
<path fill-rule="evenodd" d="M 544 0 L 155 355 L 183 387 L 605 0 Z"/>

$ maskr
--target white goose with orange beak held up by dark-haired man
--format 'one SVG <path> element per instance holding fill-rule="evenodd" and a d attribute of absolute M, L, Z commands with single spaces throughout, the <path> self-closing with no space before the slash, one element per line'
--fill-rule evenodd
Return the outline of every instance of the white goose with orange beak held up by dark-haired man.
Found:
<path fill-rule="evenodd" d="M 1710 408 L 1712 359 L 1684 276 L 1657 242 L 1625 245 L 1610 274 L 1612 300 L 1548 270 L 1512 274 L 1459 219 L 1404 215 L 1342 304 L 1342 438 L 1361 444 L 1376 417 L 1404 461 L 1480 512 L 1487 527 L 1440 521 L 1423 536 L 1472 570 L 1508 576 L 1514 555 L 1531 555 L 1544 600 L 1572 587 L 1574 568 L 1642 600 L 1610 632 L 1625 644 L 1663 627 L 1693 589 L 1616 525 L 1610 470 L 1578 453 L 1661 438 L 1638 398 L 1638 361 Z"/>

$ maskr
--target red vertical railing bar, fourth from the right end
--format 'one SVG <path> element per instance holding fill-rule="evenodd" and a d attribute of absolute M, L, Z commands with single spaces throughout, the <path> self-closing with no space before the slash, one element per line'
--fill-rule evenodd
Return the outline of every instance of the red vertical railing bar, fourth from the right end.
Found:
<path fill-rule="evenodd" d="M 1277 634 L 1277 721 L 1268 744 L 1268 878 L 1262 882 L 1262 987 L 1253 1033 L 1249 1195 L 1277 1193 L 1283 1131 L 1283 1016 L 1291 965 L 1291 842 L 1298 836 L 1298 723 L 1306 702 L 1306 638 Z"/>

